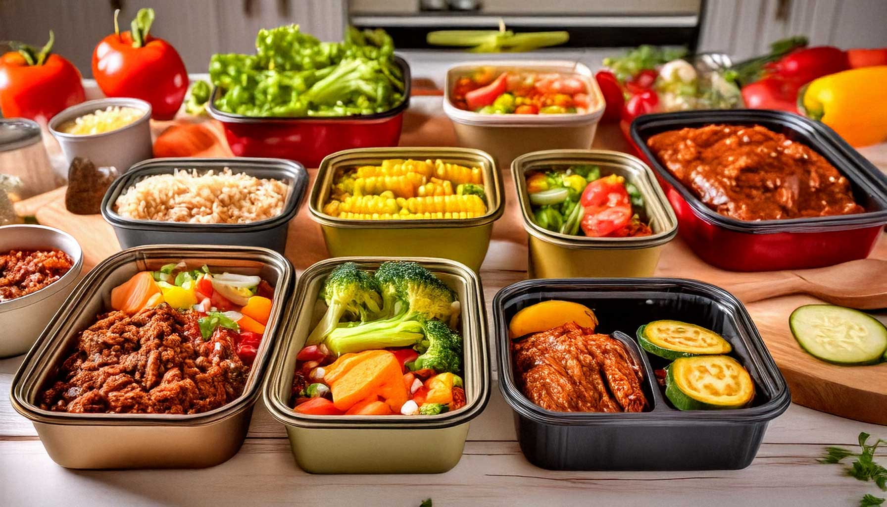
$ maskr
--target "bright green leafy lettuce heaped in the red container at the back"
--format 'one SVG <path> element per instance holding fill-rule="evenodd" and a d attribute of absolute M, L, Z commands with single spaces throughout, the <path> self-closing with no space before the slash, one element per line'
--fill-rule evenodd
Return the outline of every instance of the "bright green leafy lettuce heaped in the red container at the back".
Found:
<path fill-rule="evenodd" d="M 404 76 L 384 30 L 349 28 L 341 43 L 320 42 L 298 25 L 259 30 L 255 54 L 216 54 L 209 77 L 214 106 L 245 116 L 348 116 L 388 111 L 404 101 Z M 207 97 L 192 93 L 191 107 Z M 195 97 L 196 96 L 196 97 Z"/>

